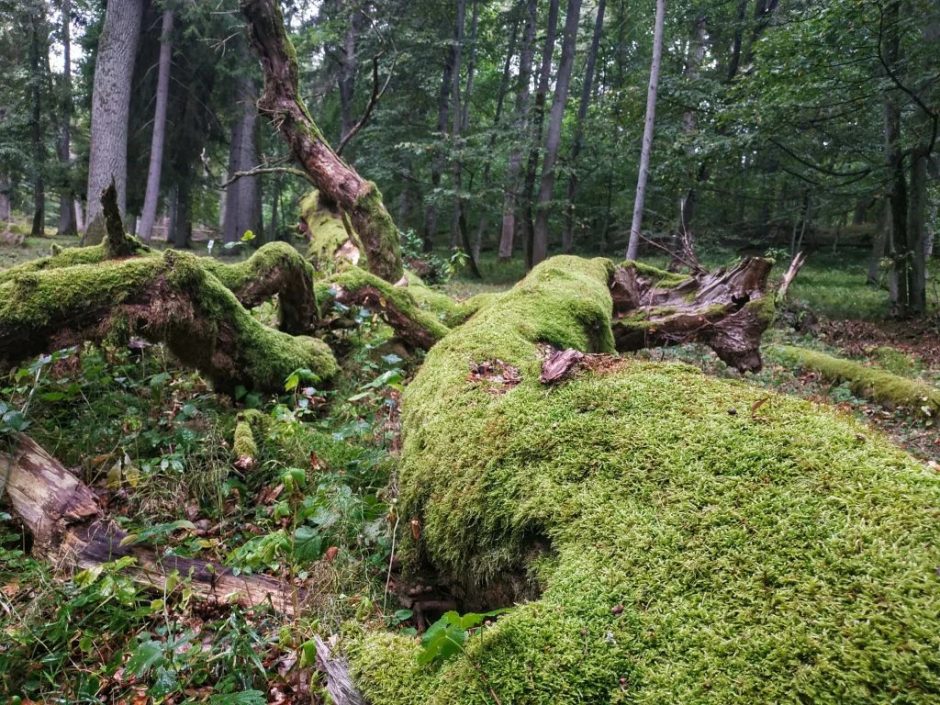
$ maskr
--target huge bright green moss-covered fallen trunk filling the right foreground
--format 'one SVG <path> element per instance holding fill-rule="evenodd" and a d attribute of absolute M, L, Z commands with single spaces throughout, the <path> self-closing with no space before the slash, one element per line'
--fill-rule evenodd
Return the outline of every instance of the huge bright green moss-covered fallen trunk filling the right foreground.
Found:
<path fill-rule="evenodd" d="M 940 702 L 940 482 L 830 411 L 609 351 L 609 263 L 549 260 L 438 343 L 404 400 L 410 561 L 541 589 L 439 667 L 341 643 L 373 705 Z M 471 364 L 518 368 L 515 386 Z M 506 605 L 491 604 L 490 607 Z M 495 697 L 494 697 L 495 696 Z"/>

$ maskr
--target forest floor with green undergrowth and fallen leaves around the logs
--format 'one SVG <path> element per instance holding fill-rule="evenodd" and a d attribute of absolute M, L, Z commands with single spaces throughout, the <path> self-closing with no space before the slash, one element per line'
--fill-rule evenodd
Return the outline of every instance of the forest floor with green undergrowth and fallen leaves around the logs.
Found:
<path fill-rule="evenodd" d="M 0 248 L 0 267 L 48 254 L 52 242 L 73 244 L 44 238 Z M 733 253 L 703 259 L 726 264 Z M 482 268 L 485 283 L 459 276 L 444 289 L 457 297 L 500 291 L 524 273 L 519 263 L 491 257 Z M 766 341 L 937 386 L 937 279 L 933 286 L 932 318 L 893 321 L 887 292 L 865 285 L 863 257 L 811 255 Z M 320 703 L 314 635 L 346 620 L 414 633 L 414 615 L 394 596 L 390 558 L 406 529 L 388 490 L 399 396 L 414 362 L 377 317 L 362 312 L 357 322 L 329 341 L 349 351 L 329 389 L 301 380 L 276 397 L 233 402 L 159 347 L 68 350 L 0 380 L 3 415 L 28 407 L 20 422 L 26 431 L 95 487 L 129 534 L 176 555 L 273 576 L 310 596 L 300 614 L 285 618 L 269 607 L 197 600 L 186 576 L 154 593 L 127 578 L 120 562 L 57 574 L 30 557 L 28 536 L 0 499 L 0 699 Z M 700 346 L 641 356 L 740 378 Z M 921 410 L 872 402 L 772 355 L 765 362 L 749 383 L 835 406 L 940 463 L 940 434 Z M 259 412 L 263 428 L 250 470 L 234 464 L 232 449 L 237 414 L 246 408 Z"/>

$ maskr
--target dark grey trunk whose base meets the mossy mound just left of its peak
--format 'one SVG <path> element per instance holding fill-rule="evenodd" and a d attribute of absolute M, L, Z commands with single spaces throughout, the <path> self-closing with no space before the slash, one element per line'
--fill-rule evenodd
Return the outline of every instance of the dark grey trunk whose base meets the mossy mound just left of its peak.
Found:
<path fill-rule="evenodd" d="M 532 237 L 532 264 L 536 265 L 548 256 L 548 216 L 552 197 L 555 195 L 555 166 L 558 148 L 561 146 L 561 123 L 568 104 L 568 86 L 574 66 L 574 50 L 578 40 L 578 23 L 581 21 L 581 0 L 568 0 L 565 15 L 565 30 L 561 44 L 561 61 L 555 81 L 555 95 L 545 135 L 545 158 L 542 162 L 542 178 L 536 205 L 535 229 Z"/>

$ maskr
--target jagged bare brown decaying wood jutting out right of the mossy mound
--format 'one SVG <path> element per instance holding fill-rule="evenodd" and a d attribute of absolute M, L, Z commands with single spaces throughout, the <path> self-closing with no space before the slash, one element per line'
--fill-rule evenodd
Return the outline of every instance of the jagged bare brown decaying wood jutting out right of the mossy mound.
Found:
<path fill-rule="evenodd" d="M 772 301 L 761 301 L 771 264 L 749 257 L 727 271 L 665 287 L 625 263 L 611 282 L 617 349 L 704 343 L 739 371 L 759 370 L 760 339 L 773 312 Z"/>

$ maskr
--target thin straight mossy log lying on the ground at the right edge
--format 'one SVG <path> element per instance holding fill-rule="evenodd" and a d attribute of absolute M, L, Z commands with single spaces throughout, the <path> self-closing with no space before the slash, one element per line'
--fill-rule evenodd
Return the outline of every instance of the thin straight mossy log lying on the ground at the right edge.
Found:
<path fill-rule="evenodd" d="M 793 345 L 772 345 L 767 352 L 787 364 L 818 372 L 830 382 L 846 382 L 865 399 L 931 416 L 940 413 L 940 389 L 926 382 Z"/>

